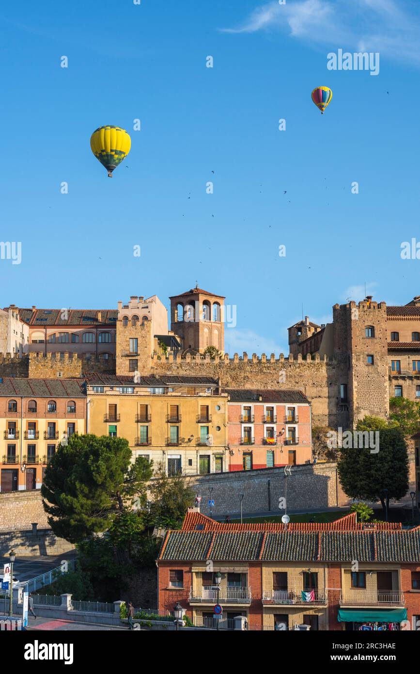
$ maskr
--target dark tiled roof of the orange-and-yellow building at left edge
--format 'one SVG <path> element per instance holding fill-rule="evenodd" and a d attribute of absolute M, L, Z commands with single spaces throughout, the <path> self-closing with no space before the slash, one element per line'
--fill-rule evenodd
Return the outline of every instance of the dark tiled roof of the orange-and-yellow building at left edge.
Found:
<path fill-rule="evenodd" d="M 0 380 L 0 396 L 34 396 L 49 398 L 84 398 L 83 379 L 23 379 L 3 377 Z"/>

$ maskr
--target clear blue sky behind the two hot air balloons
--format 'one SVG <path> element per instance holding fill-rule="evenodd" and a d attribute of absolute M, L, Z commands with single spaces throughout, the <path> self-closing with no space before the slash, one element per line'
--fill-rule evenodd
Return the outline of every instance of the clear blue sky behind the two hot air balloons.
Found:
<path fill-rule="evenodd" d="M 3 4 L 0 238 L 22 241 L 22 262 L 0 260 L 2 306 L 168 303 L 197 280 L 237 307 L 226 350 L 278 355 L 302 304 L 325 322 L 364 284 L 388 304 L 419 295 L 420 262 L 400 258 L 420 241 L 419 13 L 405 0 Z M 378 51 L 380 73 L 327 70 L 339 48 Z M 324 115 L 319 85 L 333 90 Z M 90 150 L 104 124 L 132 139 L 112 180 Z"/>

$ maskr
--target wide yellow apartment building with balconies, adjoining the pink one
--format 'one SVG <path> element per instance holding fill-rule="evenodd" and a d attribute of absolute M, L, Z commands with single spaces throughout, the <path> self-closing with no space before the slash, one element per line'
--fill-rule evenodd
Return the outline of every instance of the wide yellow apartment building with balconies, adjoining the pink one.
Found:
<path fill-rule="evenodd" d="M 125 437 L 168 474 L 227 470 L 227 394 L 212 377 L 88 373 L 88 432 Z"/>

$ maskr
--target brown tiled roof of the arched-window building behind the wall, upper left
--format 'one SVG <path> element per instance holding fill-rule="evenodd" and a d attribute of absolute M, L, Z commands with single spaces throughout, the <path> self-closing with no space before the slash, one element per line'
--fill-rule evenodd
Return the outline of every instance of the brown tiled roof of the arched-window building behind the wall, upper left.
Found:
<path fill-rule="evenodd" d="M 100 320 L 98 319 L 100 312 Z M 30 326 L 109 326 L 115 325 L 118 309 L 69 309 L 67 319 L 63 309 L 19 309 L 20 318 Z M 113 320 L 112 320 L 113 319 Z"/>

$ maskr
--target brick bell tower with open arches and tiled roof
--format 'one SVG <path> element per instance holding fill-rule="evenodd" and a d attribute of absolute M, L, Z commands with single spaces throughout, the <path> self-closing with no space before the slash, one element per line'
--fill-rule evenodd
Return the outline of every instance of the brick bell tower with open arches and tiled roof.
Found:
<path fill-rule="evenodd" d="M 225 298 L 195 288 L 170 297 L 171 330 L 180 338 L 182 349 L 203 353 L 215 346 L 224 353 Z"/>

